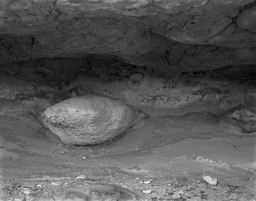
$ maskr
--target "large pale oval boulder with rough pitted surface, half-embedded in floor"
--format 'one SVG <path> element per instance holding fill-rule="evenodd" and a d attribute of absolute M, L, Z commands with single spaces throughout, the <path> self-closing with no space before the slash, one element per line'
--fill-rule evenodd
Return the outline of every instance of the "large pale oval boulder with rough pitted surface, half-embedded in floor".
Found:
<path fill-rule="evenodd" d="M 94 95 L 67 99 L 47 108 L 44 124 L 65 144 L 100 144 L 132 125 L 136 112 L 126 104 Z"/>

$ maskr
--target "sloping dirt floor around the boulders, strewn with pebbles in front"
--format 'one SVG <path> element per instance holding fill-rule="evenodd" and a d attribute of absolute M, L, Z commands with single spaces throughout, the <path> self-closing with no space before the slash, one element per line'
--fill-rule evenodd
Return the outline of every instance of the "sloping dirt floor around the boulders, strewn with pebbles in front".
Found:
<path fill-rule="evenodd" d="M 228 132 L 217 116 L 146 117 L 97 146 L 62 144 L 27 110 L 2 112 L 0 122 L 3 201 L 83 183 L 118 185 L 149 201 L 256 200 L 256 137 Z"/>

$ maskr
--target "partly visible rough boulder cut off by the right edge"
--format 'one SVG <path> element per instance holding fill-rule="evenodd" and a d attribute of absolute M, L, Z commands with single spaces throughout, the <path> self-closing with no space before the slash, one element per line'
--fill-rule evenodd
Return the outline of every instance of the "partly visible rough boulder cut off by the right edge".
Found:
<path fill-rule="evenodd" d="M 244 134 L 256 133 L 256 106 L 238 106 L 229 110 L 221 122 Z"/>

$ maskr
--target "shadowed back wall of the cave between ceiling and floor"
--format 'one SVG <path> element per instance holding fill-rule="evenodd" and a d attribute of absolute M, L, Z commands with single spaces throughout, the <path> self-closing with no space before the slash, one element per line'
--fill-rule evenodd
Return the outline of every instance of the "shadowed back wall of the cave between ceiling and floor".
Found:
<path fill-rule="evenodd" d="M 32 67 L 27 68 L 26 78 L 20 75 L 20 70 L 12 71 L 13 76 L 0 74 L 0 112 L 27 108 L 41 116 L 46 108 L 58 102 L 93 94 L 121 100 L 154 116 L 182 116 L 191 112 L 221 116 L 238 105 L 256 102 L 255 83 L 253 77 L 246 76 L 246 71 L 222 69 L 228 74 L 216 70 L 164 77 L 138 67 L 116 69 L 110 63 L 92 67 L 88 75 L 81 73 L 75 79 L 72 74 L 70 77 L 63 74 L 69 82 L 62 82 L 61 77 L 51 79 L 51 72 L 55 72 L 53 67 L 42 66 L 41 69 L 41 73 L 33 74 Z M 70 72 L 66 70 L 68 68 L 64 72 Z"/>

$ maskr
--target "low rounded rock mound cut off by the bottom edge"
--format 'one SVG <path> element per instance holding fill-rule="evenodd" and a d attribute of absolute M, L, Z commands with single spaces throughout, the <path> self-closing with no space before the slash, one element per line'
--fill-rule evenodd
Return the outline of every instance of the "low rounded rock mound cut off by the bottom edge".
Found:
<path fill-rule="evenodd" d="M 117 185 L 71 185 L 50 192 L 31 193 L 26 201 L 145 201 L 140 195 Z"/>

